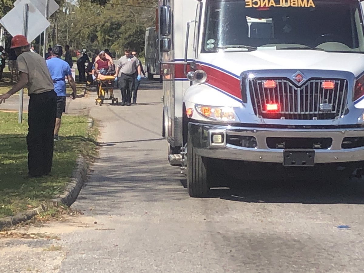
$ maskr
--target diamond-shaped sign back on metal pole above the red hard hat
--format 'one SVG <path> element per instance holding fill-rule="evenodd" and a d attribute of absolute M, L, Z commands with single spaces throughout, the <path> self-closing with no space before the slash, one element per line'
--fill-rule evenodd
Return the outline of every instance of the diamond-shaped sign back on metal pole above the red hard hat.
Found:
<path fill-rule="evenodd" d="M 0 24 L 11 34 L 15 36 L 23 33 L 23 16 L 24 16 L 24 4 L 29 5 L 29 17 L 28 17 L 28 35 L 29 42 L 33 41 L 44 29 L 48 28 L 50 23 L 43 16 L 43 14 L 31 3 L 30 0 L 20 0 L 11 11 L 9 11 L 0 20 Z"/>

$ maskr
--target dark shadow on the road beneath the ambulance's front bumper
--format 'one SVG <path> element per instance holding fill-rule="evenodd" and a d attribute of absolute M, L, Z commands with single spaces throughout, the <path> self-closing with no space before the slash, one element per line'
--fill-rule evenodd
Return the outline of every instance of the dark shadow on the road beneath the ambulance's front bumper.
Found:
<path fill-rule="evenodd" d="M 211 189 L 211 197 L 248 203 L 364 204 L 363 179 L 345 181 L 234 181 L 230 189 Z"/>

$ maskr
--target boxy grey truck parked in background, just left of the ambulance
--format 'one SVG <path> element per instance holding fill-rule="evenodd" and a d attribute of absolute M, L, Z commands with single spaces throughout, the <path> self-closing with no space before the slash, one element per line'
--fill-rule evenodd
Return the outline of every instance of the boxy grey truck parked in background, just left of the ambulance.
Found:
<path fill-rule="evenodd" d="M 159 75 L 162 82 L 161 63 L 158 56 L 158 31 L 155 27 L 149 27 L 145 31 L 145 72 L 148 79 L 152 80 L 154 75 Z"/>

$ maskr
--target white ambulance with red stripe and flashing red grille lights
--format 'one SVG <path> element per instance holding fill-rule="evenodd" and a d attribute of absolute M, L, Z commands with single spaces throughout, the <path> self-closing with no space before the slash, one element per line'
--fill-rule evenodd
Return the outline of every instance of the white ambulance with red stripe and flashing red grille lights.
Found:
<path fill-rule="evenodd" d="M 361 175 L 363 7 L 359 0 L 159 1 L 162 135 L 191 197 L 264 172 Z"/>

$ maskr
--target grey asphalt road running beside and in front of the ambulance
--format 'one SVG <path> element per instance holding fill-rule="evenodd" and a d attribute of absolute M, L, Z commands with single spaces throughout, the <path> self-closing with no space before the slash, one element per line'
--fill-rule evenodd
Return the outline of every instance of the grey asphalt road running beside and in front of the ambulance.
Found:
<path fill-rule="evenodd" d="M 0 272 L 363 271 L 363 181 L 266 179 L 190 198 L 167 162 L 161 96 L 143 82 L 137 106 L 70 100 L 69 113 L 89 111 L 102 131 L 73 205 L 85 214 L 21 230 L 59 241 L 1 240 Z"/>

